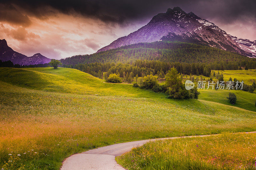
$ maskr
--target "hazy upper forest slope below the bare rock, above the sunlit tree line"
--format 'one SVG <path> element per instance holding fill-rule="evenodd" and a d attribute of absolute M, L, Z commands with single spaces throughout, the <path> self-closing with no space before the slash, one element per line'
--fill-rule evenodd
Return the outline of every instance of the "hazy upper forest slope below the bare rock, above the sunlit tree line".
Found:
<path fill-rule="evenodd" d="M 91 55 L 76 55 L 61 59 L 65 65 L 88 63 L 132 63 L 136 60 L 154 60 L 165 63 L 204 63 L 212 70 L 254 69 L 256 59 L 219 48 L 185 42 L 157 41 L 137 43 Z"/>

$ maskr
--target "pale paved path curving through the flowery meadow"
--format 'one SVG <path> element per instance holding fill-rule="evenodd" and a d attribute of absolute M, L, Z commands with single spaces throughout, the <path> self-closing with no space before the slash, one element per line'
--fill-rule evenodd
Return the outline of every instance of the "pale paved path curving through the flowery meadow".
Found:
<path fill-rule="evenodd" d="M 256 132 L 244 132 L 256 133 Z M 220 134 L 216 134 L 220 135 Z M 186 137 L 207 137 L 215 135 L 200 135 L 200 136 L 186 136 Z M 109 146 L 92 149 L 86 152 L 71 155 L 62 163 L 60 170 L 125 170 L 122 166 L 116 163 L 115 157 L 120 156 L 125 152 L 130 151 L 136 146 L 141 146 L 149 141 L 177 139 L 185 137 L 167 137 L 140 140 L 133 142 L 126 142 L 120 144 L 113 144 Z"/>

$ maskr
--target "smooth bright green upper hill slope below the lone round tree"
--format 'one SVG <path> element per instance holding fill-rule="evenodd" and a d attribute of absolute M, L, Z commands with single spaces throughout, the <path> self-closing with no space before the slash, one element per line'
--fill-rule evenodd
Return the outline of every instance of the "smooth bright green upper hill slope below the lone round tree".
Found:
<path fill-rule="evenodd" d="M 0 81 L 47 92 L 150 98 L 166 96 L 133 88 L 132 85 L 104 83 L 102 79 L 69 68 L 0 68 Z"/>

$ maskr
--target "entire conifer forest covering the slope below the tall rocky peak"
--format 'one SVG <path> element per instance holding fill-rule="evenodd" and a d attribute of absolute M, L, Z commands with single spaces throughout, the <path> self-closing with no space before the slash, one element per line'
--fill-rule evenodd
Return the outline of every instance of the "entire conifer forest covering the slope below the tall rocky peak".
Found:
<path fill-rule="evenodd" d="M 76 55 L 60 60 L 63 67 L 84 71 L 102 78 L 111 73 L 125 77 L 165 75 L 175 67 L 181 74 L 209 76 L 211 70 L 255 69 L 256 59 L 218 48 L 185 42 L 157 41 L 137 43 L 94 53 Z"/>

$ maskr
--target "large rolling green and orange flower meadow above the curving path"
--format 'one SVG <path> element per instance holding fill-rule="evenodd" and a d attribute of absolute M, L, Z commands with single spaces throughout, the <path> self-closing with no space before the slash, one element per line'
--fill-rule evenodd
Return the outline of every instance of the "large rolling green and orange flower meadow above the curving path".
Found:
<path fill-rule="evenodd" d="M 68 68 L 0 68 L 0 83 L 4 170 L 59 169 L 71 154 L 126 141 L 256 130 L 254 93 L 236 91 L 235 105 L 226 90 L 171 100 Z"/>

